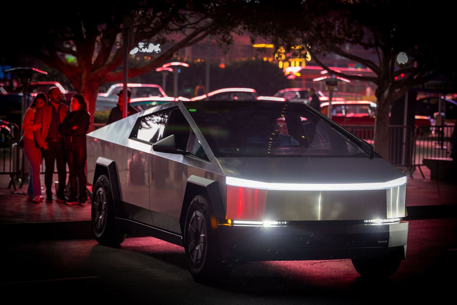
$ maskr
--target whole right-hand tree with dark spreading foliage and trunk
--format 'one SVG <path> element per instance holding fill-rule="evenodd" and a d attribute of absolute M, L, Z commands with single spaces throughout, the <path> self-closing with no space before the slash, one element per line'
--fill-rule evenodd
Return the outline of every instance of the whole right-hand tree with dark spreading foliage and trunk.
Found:
<path fill-rule="evenodd" d="M 375 144 L 383 156 L 388 155 L 392 102 L 412 87 L 456 70 L 452 48 L 446 47 L 453 29 L 453 20 L 443 18 L 449 9 L 446 2 L 424 5 L 412 0 L 292 0 L 275 11 L 266 1 L 250 5 L 258 17 L 270 21 L 251 23 L 248 28 L 255 35 L 269 38 L 277 46 L 306 46 L 314 62 L 331 74 L 377 85 Z M 351 53 L 348 45 L 367 50 L 367 55 Z M 400 52 L 407 54 L 406 64 L 398 63 Z M 333 71 L 323 60 L 329 53 L 358 62 L 376 76 Z M 401 74 L 405 77 L 400 78 Z"/>

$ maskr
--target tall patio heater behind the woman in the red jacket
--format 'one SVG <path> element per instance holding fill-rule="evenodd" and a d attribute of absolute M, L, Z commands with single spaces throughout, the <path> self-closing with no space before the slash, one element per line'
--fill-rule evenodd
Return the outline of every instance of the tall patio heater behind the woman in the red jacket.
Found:
<path fill-rule="evenodd" d="M 24 67 L 8 69 L 8 70 L 5 70 L 5 72 L 10 72 L 11 74 L 16 75 L 16 77 L 18 79 L 18 83 L 22 84 L 21 124 L 19 124 L 19 130 L 21 131 L 21 136 L 22 136 L 24 134 L 24 132 L 22 130 L 22 121 L 24 120 L 24 115 L 25 115 L 26 109 L 27 109 L 28 86 L 30 85 L 30 83 L 32 83 L 33 74 L 35 74 L 35 73 L 48 74 L 48 73 L 45 71 L 42 71 L 42 70 L 38 70 L 37 68 L 24 68 Z M 18 138 L 17 140 L 19 140 L 19 139 L 20 138 Z M 21 150 L 18 151 L 17 156 L 20 157 L 20 160 L 21 160 L 21 169 L 20 169 L 21 185 L 20 185 L 20 187 L 22 187 L 22 185 L 24 184 L 25 177 L 26 177 L 25 169 L 30 168 L 30 163 L 28 160 L 26 160 L 27 158 L 24 158 L 24 155 L 22 154 Z M 27 195 L 27 193 L 25 193 L 25 192 L 16 191 L 14 193 Z"/>

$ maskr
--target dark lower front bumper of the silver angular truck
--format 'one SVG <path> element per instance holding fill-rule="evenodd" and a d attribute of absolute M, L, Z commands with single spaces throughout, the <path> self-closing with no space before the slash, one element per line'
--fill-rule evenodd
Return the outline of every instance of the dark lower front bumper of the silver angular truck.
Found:
<path fill-rule="evenodd" d="M 223 257 L 289 261 L 406 257 L 408 222 L 354 224 L 302 221 L 299 225 L 218 225 Z"/>

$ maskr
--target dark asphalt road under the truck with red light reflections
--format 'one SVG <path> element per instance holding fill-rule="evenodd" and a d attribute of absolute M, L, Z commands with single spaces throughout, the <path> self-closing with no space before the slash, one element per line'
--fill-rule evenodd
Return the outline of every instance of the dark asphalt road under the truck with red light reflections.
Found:
<path fill-rule="evenodd" d="M 47 304 L 452 303 L 456 237 L 456 218 L 411 220 L 407 257 L 389 278 L 361 277 L 350 259 L 248 262 L 215 287 L 193 281 L 182 247 L 153 237 L 2 244 L 0 291 Z"/>

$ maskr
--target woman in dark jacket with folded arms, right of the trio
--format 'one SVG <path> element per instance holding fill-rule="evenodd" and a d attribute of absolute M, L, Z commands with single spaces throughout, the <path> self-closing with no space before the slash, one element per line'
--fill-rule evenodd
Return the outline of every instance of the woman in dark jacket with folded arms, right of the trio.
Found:
<path fill-rule="evenodd" d="M 75 94 L 71 99 L 71 112 L 67 114 L 59 126 L 60 134 L 64 135 L 65 155 L 69 167 L 70 197 L 66 204 L 86 205 L 87 193 L 85 174 L 86 134 L 89 132 L 90 114 L 87 112 L 87 102 L 84 96 Z M 80 196 L 77 194 L 79 181 Z"/>

